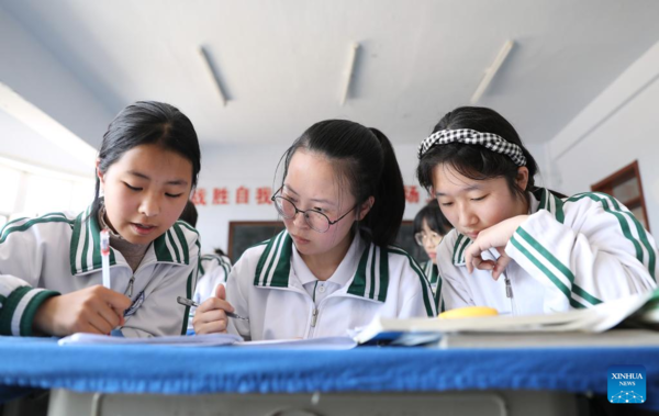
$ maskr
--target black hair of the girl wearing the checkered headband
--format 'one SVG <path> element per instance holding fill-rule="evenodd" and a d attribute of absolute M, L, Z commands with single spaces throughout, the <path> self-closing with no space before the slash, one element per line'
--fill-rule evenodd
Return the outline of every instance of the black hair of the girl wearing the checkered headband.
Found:
<path fill-rule="evenodd" d="M 485 180 L 503 177 L 511 193 L 528 202 L 527 192 L 536 188 L 534 177 L 538 172 L 538 166 L 526 147 L 524 147 L 513 125 L 494 110 L 482 106 L 460 106 L 443 116 L 437 125 L 435 125 L 433 133 L 443 130 L 459 128 L 470 128 L 481 133 L 494 133 L 505 140 L 520 146 L 526 158 L 526 168 L 528 169 L 526 188 L 520 189 L 517 187 L 516 179 L 520 167 L 509 156 L 492 151 L 484 146 L 463 145 L 461 143 L 434 146 L 422 156 L 416 168 L 416 177 L 421 185 L 429 191 L 433 187 L 434 168 L 438 165 L 447 164 L 469 179 Z"/>

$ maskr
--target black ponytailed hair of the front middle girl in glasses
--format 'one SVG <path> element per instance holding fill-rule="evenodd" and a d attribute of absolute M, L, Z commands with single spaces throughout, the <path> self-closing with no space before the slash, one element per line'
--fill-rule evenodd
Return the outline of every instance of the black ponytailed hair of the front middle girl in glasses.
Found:
<path fill-rule="evenodd" d="M 297 150 L 304 149 L 328 158 L 337 176 L 345 180 L 361 206 L 369 196 L 375 203 L 359 226 L 380 247 L 395 240 L 403 211 L 403 177 L 391 142 L 376 128 L 347 120 L 326 120 L 309 127 L 283 155 L 283 179 Z"/>

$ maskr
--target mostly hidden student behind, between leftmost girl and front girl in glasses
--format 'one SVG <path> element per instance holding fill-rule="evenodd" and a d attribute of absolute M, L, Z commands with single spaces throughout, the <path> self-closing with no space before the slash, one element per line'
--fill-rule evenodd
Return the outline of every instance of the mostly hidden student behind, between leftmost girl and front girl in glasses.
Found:
<path fill-rule="evenodd" d="M 185 221 L 192 227 L 197 227 L 198 217 L 199 214 L 197 213 L 197 207 L 192 201 L 188 201 L 179 220 Z M 206 299 L 214 296 L 217 291 L 217 285 L 226 283 L 226 279 L 231 272 L 231 260 L 220 248 L 216 248 L 212 254 L 202 255 L 200 260 L 199 276 L 201 276 L 201 278 L 199 278 L 197 282 L 194 295 L 192 296 L 192 300 L 197 303 L 202 303 Z M 190 313 L 188 315 L 188 335 L 194 334 L 192 321 L 194 319 L 196 312 L 197 307 L 190 307 Z"/>

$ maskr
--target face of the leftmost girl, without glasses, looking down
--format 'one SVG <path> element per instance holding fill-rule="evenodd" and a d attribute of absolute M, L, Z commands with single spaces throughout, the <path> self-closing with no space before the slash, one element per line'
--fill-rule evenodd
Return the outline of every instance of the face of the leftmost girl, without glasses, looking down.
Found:
<path fill-rule="evenodd" d="M 192 189 L 191 172 L 190 160 L 153 144 L 124 153 L 105 173 L 97 168 L 105 195 L 105 222 L 130 243 L 152 243 L 183 211 Z"/>

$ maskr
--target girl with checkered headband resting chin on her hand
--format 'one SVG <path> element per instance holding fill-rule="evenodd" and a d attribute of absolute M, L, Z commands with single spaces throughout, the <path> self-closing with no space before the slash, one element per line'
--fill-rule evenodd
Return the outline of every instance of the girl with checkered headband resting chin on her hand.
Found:
<path fill-rule="evenodd" d="M 421 185 L 455 227 L 437 248 L 446 308 L 551 313 L 656 288 L 655 239 L 629 210 L 536 187 L 533 156 L 495 111 L 447 113 L 417 156 Z"/>

